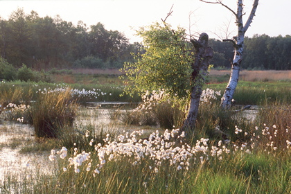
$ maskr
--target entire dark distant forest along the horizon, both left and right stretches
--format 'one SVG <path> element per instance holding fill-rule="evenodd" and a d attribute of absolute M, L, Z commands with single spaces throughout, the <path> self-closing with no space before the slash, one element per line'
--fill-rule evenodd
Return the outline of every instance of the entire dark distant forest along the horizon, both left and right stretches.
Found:
<path fill-rule="evenodd" d="M 215 51 L 214 67 L 230 68 L 233 46 L 210 39 Z M 132 60 L 131 53 L 143 51 L 141 43 L 130 44 L 118 30 L 103 24 L 77 26 L 57 16 L 39 17 L 19 9 L 8 20 L 0 17 L 0 56 L 14 67 L 40 69 L 120 68 Z M 254 35 L 245 38 L 243 69 L 291 69 L 291 36 Z"/>

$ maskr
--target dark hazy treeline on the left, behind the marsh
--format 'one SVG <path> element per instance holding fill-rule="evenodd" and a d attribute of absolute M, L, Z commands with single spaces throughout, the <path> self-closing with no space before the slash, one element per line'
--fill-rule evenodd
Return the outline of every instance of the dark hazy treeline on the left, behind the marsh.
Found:
<path fill-rule="evenodd" d="M 33 69 L 122 67 L 140 44 L 130 44 L 123 33 L 103 24 L 75 26 L 59 16 L 39 17 L 31 11 L 0 17 L 0 55 L 15 67 Z"/>

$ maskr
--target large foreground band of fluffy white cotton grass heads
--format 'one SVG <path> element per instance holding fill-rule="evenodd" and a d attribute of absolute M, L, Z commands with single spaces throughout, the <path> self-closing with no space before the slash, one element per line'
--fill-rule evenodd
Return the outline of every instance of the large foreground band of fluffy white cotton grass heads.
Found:
<path fill-rule="evenodd" d="M 275 129 L 274 126 L 272 129 Z M 258 130 L 258 128 L 255 128 L 255 130 Z M 236 126 L 235 132 L 241 133 L 243 130 Z M 265 132 L 262 139 L 267 137 L 269 140 L 270 135 L 267 132 L 270 132 L 270 128 L 265 125 L 262 132 Z M 274 132 L 276 131 L 274 130 Z M 249 143 L 234 143 L 227 139 L 224 141 L 220 140 L 215 144 L 209 142 L 209 139 L 201 138 L 194 145 L 188 145 L 187 143 L 178 144 L 170 140 L 171 136 L 175 136 L 177 133 L 180 136 L 184 136 L 184 133 L 180 133 L 179 129 L 165 130 L 164 134 L 156 131 L 152 132 L 147 139 L 137 139 L 142 133 L 142 131 L 124 132 L 124 134 L 116 137 L 116 141 L 106 141 L 104 145 L 95 142 L 95 149 L 92 154 L 91 152 L 80 152 L 77 148 L 73 148 L 74 153 L 67 161 L 69 162 L 68 166 L 73 166 L 73 168 L 68 168 L 68 170 L 73 169 L 75 173 L 80 173 L 82 169 L 90 172 L 93 168 L 94 170 L 91 172 L 91 175 L 96 177 L 100 171 L 105 170 L 108 164 L 126 161 L 133 168 L 136 168 L 135 166 L 144 164 L 143 161 L 148 159 L 147 163 L 149 165 L 146 168 L 152 173 L 159 173 L 165 162 L 172 166 L 170 168 L 180 172 L 191 169 L 193 164 L 204 165 L 206 162 L 212 162 L 213 158 L 215 158 L 214 161 L 223 161 L 224 158 L 236 152 L 240 152 L 242 155 L 250 154 L 256 148 L 256 145 L 258 145 L 257 140 L 259 138 L 257 135 L 259 132 L 256 132 L 256 134 L 248 132 L 246 135 L 250 134 L 249 136 L 252 138 Z M 107 134 L 106 138 L 109 139 L 109 137 L 111 136 Z M 267 152 L 278 152 L 280 149 L 273 139 L 274 137 L 272 141 L 265 144 Z M 88 143 L 91 145 L 90 143 L 93 142 L 94 140 L 91 139 Z M 286 145 L 287 148 L 290 148 L 291 142 L 287 140 Z M 49 158 L 51 161 L 54 161 L 58 155 L 62 159 L 67 157 L 67 154 L 67 148 L 63 147 L 58 154 L 55 150 L 51 150 Z M 91 158 L 91 155 L 94 157 Z M 67 172 L 67 168 L 64 172 Z"/>

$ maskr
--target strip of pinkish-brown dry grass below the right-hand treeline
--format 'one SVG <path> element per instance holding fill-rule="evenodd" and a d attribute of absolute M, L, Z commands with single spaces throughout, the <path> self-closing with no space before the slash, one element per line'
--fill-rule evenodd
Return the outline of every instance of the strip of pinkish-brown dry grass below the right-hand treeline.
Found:
<path fill-rule="evenodd" d="M 230 70 L 211 70 L 210 76 L 224 76 L 230 75 Z M 240 80 L 244 81 L 278 81 L 278 80 L 291 80 L 291 71 L 240 71 Z"/>

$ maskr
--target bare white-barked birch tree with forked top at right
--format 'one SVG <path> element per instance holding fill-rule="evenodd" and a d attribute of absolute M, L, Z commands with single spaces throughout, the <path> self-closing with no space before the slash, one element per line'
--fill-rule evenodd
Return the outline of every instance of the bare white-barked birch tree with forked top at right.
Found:
<path fill-rule="evenodd" d="M 249 28 L 256 14 L 256 8 L 258 7 L 258 0 L 254 0 L 252 10 L 249 13 L 249 17 L 247 18 L 247 21 L 245 22 L 245 24 L 243 23 L 243 16 L 245 15 L 245 13 L 243 12 L 243 7 L 244 7 L 243 0 L 237 1 L 236 11 L 232 10 L 231 8 L 229 8 L 229 6 L 222 3 L 222 0 L 216 0 L 216 1 L 200 0 L 200 1 L 203 1 L 205 3 L 220 4 L 221 6 L 224 6 L 225 8 L 227 8 L 227 10 L 231 11 L 233 15 L 236 17 L 237 35 L 233 37 L 232 39 L 223 39 L 224 42 L 228 42 L 228 41 L 231 42 L 234 47 L 234 56 L 231 62 L 231 76 L 229 78 L 229 83 L 227 85 L 227 88 L 224 91 L 224 94 L 221 100 L 222 108 L 227 109 L 231 105 L 231 100 L 233 99 L 234 91 L 236 90 L 236 86 L 238 85 L 240 64 L 243 60 L 243 46 L 244 46 L 245 33 L 247 32 L 247 29 Z"/>

